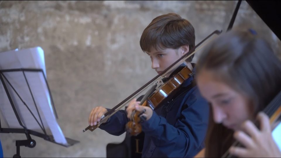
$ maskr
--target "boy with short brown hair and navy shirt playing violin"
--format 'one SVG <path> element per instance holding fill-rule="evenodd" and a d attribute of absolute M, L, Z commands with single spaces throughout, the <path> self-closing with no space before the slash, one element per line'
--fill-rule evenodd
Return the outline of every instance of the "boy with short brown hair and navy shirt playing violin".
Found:
<path fill-rule="evenodd" d="M 140 38 L 141 49 L 150 56 L 152 68 L 159 74 L 176 62 L 195 46 L 195 32 L 191 23 L 175 13 L 161 15 L 152 20 Z M 194 55 L 193 55 L 194 56 Z M 191 56 L 172 73 L 168 79 L 177 74 L 181 68 L 188 67 L 195 73 Z M 152 110 L 140 106 L 133 99 L 126 110 L 119 110 L 100 129 L 112 135 L 126 132 L 126 123 L 131 119 L 132 111 L 144 111 L 140 115 L 146 119 L 141 122 L 144 132 L 142 157 L 193 157 L 204 147 L 208 126 L 209 108 L 189 77 L 177 90 L 177 94 Z M 89 116 L 89 125 L 97 125 L 108 111 L 104 107 L 95 107 Z"/>

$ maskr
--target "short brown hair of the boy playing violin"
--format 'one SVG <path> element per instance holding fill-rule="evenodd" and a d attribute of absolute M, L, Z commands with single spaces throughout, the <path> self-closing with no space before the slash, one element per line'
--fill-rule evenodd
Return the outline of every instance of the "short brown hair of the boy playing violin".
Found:
<path fill-rule="evenodd" d="M 177 49 L 183 45 L 189 45 L 189 50 L 195 46 L 195 31 L 188 20 L 176 13 L 157 16 L 140 37 L 140 47 L 144 52 L 149 52 L 151 47 L 161 50 Z M 187 61 L 192 61 L 193 56 Z"/>

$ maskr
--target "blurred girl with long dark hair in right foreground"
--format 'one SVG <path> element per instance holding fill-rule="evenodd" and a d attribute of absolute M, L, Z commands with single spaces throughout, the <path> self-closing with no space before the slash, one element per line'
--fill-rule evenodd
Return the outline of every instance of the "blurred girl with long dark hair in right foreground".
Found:
<path fill-rule="evenodd" d="M 237 157 L 281 157 L 273 126 L 260 112 L 281 90 L 281 62 L 268 43 L 253 30 L 232 30 L 205 49 L 196 66 L 198 88 L 211 107 L 205 157 L 221 157 L 229 147 Z M 235 140 L 244 147 L 233 146 Z"/>

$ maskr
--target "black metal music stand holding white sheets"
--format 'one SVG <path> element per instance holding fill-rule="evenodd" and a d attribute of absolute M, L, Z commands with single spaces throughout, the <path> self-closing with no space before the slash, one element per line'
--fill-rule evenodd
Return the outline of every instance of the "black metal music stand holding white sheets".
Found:
<path fill-rule="evenodd" d="M 27 86 L 28 86 L 28 89 L 29 89 L 29 92 L 30 92 L 30 95 L 33 99 L 33 102 L 35 104 L 35 107 L 36 107 L 36 110 L 37 110 L 37 114 L 39 115 L 39 118 L 40 118 L 40 122 L 36 119 L 36 117 L 34 116 L 34 111 L 31 111 L 30 108 L 28 107 L 28 105 L 24 102 L 23 98 L 18 94 L 17 90 L 13 87 L 13 85 L 11 84 L 11 82 L 9 82 L 9 80 L 6 78 L 6 76 L 4 75 L 4 73 L 12 73 L 12 72 L 23 72 L 23 76 L 25 78 L 25 81 L 27 83 Z M 38 107 L 36 105 L 36 102 L 35 102 L 35 99 L 34 99 L 34 95 L 30 89 L 30 83 L 28 82 L 27 80 L 27 77 L 26 77 L 26 72 L 34 72 L 34 73 L 42 73 L 42 75 L 44 76 L 44 79 L 45 79 L 45 82 L 47 84 L 47 87 L 48 87 L 48 92 L 49 92 L 49 96 L 50 96 L 50 99 L 51 99 L 51 102 L 52 102 L 52 106 L 54 108 L 54 103 L 53 103 L 53 99 L 52 99 L 52 95 L 51 95 L 51 92 L 49 90 L 49 85 L 47 83 L 47 80 L 46 80 L 46 77 L 44 75 L 44 72 L 42 69 L 28 69 L 28 68 L 20 68 L 20 69 L 5 69 L 5 70 L 0 70 L 0 79 L 1 79 L 1 83 L 4 87 L 4 90 L 7 94 L 7 97 L 8 97 L 8 100 L 11 104 L 11 107 L 13 109 L 13 112 L 15 113 L 16 115 L 16 118 L 17 118 L 17 121 L 18 123 L 20 124 L 20 126 L 22 128 L 2 128 L 1 127 L 1 120 L 0 120 L 0 133 L 24 133 L 26 135 L 26 140 L 16 140 L 16 154 L 13 156 L 13 157 L 20 157 L 20 146 L 25 146 L 25 147 L 30 147 L 30 148 L 33 148 L 35 147 L 36 145 L 36 142 L 35 140 L 33 140 L 31 138 L 30 135 L 35 135 L 37 137 L 40 137 L 40 138 L 43 138 L 44 140 L 47 140 L 49 142 L 53 142 L 53 143 L 56 143 L 56 144 L 59 144 L 59 145 L 62 145 L 62 146 L 65 146 L 65 147 L 69 147 L 69 146 L 72 146 L 76 143 L 78 143 L 79 141 L 76 141 L 76 140 L 73 140 L 73 139 L 70 139 L 70 138 L 66 138 L 66 141 L 67 141 L 67 144 L 62 144 L 62 143 L 57 143 L 55 140 L 54 140 L 54 136 L 53 135 L 48 135 L 47 132 L 46 132 L 46 129 L 44 127 L 44 124 L 42 122 L 42 119 L 41 119 L 41 116 L 40 116 L 40 113 L 38 111 Z M 6 81 L 6 82 L 5 82 Z M 8 83 L 8 84 L 6 84 Z M 31 83 L 32 84 L 32 83 Z M 1 86 L 1 85 L 0 85 Z M 35 130 L 30 130 L 28 128 L 26 128 L 23 123 L 22 123 L 22 120 L 20 119 L 20 116 L 19 116 L 19 111 L 17 110 L 16 106 L 15 106 L 15 100 L 12 99 L 11 97 L 11 92 L 9 92 L 8 90 L 8 86 L 10 86 L 12 88 L 12 90 L 16 93 L 16 95 L 20 98 L 21 102 L 25 105 L 25 107 L 27 107 L 27 109 L 29 110 L 30 114 L 34 117 L 34 119 L 36 120 L 36 122 L 38 123 L 38 125 L 40 126 L 40 128 L 42 129 L 42 133 L 40 132 L 37 132 Z M 11 90 L 11 89 L 10 89 Z M 57 114 L 56 114 L 56 110 L 54 108 L 54 113 L 56 115 L 56 119 L 58 118 L 57 117 Z"/>

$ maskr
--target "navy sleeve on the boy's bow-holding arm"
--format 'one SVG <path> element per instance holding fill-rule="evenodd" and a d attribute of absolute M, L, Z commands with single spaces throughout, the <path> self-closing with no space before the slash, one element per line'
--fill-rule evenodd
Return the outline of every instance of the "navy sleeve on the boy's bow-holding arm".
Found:
<path fill-rule="evenodd" d="M 110 109 L 107 110 L 109 111 Z M 125 110 L 119 110 L 106 123 L 102 123 L 99 128 L 109 134 L 118 136 L 126 132 L 126 123 L 128 121 L 127 112 Z"/>

